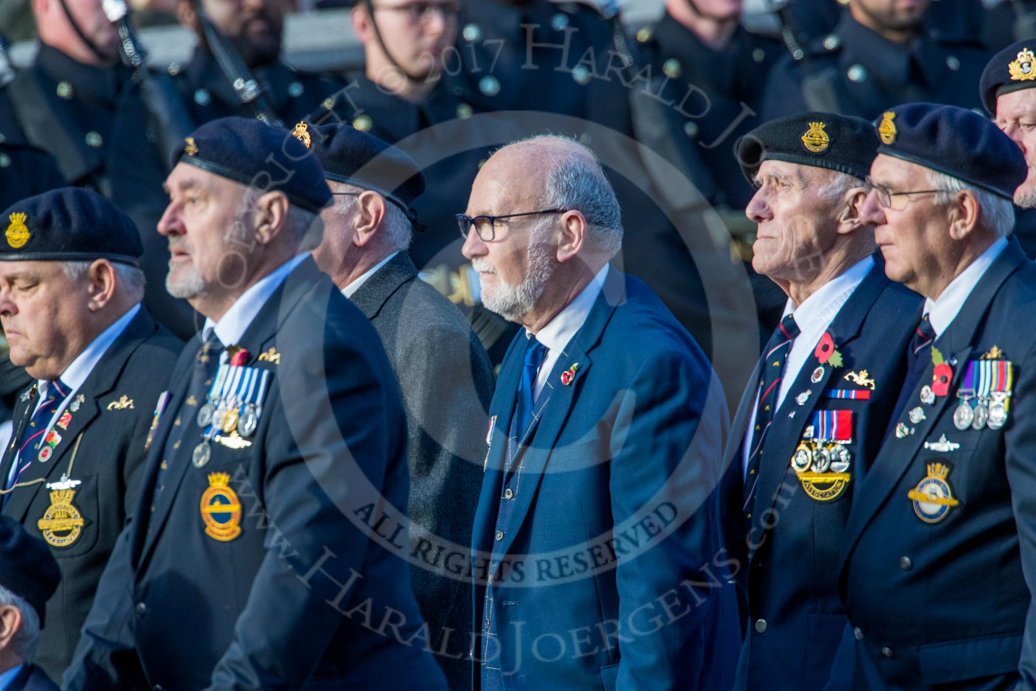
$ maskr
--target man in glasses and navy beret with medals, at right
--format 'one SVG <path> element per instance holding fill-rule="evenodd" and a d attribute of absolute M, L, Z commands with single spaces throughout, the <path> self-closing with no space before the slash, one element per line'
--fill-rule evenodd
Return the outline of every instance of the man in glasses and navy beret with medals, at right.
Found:
<path fill-rule="evenodd" d="M 1033 689 L 1036 264 L 1009 237 L 1026 162 L 951 106 L 893 108 L 877 132 L 861 217 L 925 300 L 837 559 L 855 688 Z"/>

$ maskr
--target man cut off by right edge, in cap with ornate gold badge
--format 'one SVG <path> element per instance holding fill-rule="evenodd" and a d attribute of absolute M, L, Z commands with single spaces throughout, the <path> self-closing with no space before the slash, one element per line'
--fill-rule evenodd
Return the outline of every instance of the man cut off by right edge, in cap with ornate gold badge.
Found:
<path fill-rule="evenodd" d="M 1029 164 L 1026 181 L 1014 191 L 1014 236 L 1036 256 L 1036 40 L 1019 40 L 992 56 L 979 82 L 982 107 L 1011 138 Z"/>

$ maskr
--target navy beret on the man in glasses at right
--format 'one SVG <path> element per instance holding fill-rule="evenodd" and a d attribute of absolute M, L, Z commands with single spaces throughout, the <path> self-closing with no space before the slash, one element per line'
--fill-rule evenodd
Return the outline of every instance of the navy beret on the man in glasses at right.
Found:
<path fill-rule="evenodd" d="M 1025 182 L 1021 149 L 975 111 L 938 104 L 905 104 L 876 122 L 879 153 L 916 163 L 1006 199 Z"/>

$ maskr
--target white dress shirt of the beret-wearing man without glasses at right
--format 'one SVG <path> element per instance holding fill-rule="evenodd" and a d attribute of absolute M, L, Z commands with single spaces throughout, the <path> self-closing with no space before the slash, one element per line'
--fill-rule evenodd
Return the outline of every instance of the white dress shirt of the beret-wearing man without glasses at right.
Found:
<path fill-rule="evenodd" d="M 777 401 L 774 404 L 774 420 L 777 420 L 778 411 L 788 390 L 802 371 L 802 367 L 809 359 L 816 344 L 821 342 L 821 337 L 831 326 L 839 310 L 844 307 L 848 298 L 853 296 L 856 289 L 863 283 L 867 272 L 874 266 L 874 260 L 870 257 L 853 264 L 848 269 L 840 273 L 837 278 L 828 281 L 821 286 L 816 292 L 802 300 L 798 308 L 789 297 L 784 306 L 784 316 L 792 314 L 795 323 L 799 327 L 799 336 L 792 342 L 787 358 L 784 361 L 784 371 L 781 374 L 780 387 L 777 390 Z M 838 345 L 837 343 L 835 344 Z M 754 381 L 749 384 L 755 385 Z M 755 412 L 759 407 L 759 395 L 756 393 L 752 403 L 752 410 L 748 416 L 748 428 L 745 431 L 745 442 L 742 444 L 741 471 L 742 474 L 748 471 L 748 456 L 751 453 L 752 431 L 755 429 Z"/>

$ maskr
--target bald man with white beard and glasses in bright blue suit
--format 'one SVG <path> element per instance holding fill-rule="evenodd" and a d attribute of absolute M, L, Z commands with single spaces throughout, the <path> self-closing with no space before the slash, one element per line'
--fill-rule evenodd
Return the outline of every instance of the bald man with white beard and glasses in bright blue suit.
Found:
<path fill-rule="evenodd" d="M 524 327 L 471 539 L 474 688 L 723 688 L 737 621 L 703 509 L 723 396 L 658 297 L 609 266 L 623 230 L 600 165 L 564 138 L 507 146 L 458 221 L 484 305 Z"/>

